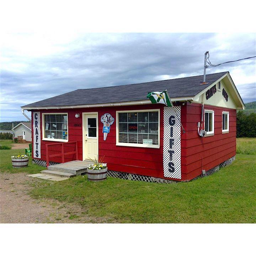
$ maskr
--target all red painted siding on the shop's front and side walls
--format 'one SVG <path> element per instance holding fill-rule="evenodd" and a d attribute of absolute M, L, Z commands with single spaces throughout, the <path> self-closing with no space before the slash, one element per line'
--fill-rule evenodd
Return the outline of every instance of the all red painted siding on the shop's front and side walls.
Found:
<path fill-rule="evenodd" d="M 160 148 L 138 148 L 130 146 L 116 146 L 116 111 L 117 110 L 150 110 L 160 109 Z M 181 180 L 191 180 L 201 174 L 202 169 L 209 170 L 220 164 L 231 156 L 235 155 L 236 137 L 236 111 L 229 111 L 228 134 L 222 134 L 222 111 L 224 109 L 212 106 L 205 106 L 207 109 L 215 111 L 215 134 L 212 137 L 201 138 L 197 134 L 197 122 L 201 120 L 201 105 L 188 104 L 181 107 L 181 122 L 186 133 L 181 133 Z M 41 134 L 42 134 L 42 113 L 68 113 L 68 136 L 69 141 L 78 142 L 79 159 L 82 160 L 82 112 L 98 112 L 98 153 L 99 157 L 105 156 L 104 161 L 108 164 L 108 169 L 113 171 L 123 171 L 133 174 L 164 177 L 163 171 L 163 109 L 164 105 L 142 105 L 142 106 L 122 106 L 122 107 L 102 107 L 102 108 L 81 108 L 62 110 L 42 110 L 41 111 Z M 79 118 L 75 114 L 80 113 Z M 102 127 L 100 121 L 104 113 L 110 113 L 115 119 L 111 126 L 107 140 L 103 140 Z M 33 116 L 33 115 L 32 115 Z M 33 120 L 32 120 L 33 122 Z M 74 124 L 81 124 L 75 127 Z M 32 130 L 33 134 L 33 130 Z M 41 140 L 41 159 L 46 160 L 46 144 L 58 143 Z M 65 151 L 73 151 L 74 145 L 66 144 Z M 54 146 L 51 154 L 61 152 L 60 146 Z M 203 158 L 203 160 L 202 160 Z M 69 156 L 65 161 L 74 160 Z M 50 161 L 61 162 L 61 158 L 51 158 Z M 171 178 L 166 178 L 171 179 Z"/>

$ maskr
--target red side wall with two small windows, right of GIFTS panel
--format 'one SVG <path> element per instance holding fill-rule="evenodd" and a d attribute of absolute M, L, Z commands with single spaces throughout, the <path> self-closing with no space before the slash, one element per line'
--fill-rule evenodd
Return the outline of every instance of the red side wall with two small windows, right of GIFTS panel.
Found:
<path fill-rule="evenodd" d="M 214 135 L 199 137 L 197 122 L 201 120 L 201 105 L 188 104 L 184 110 L 185 136 L 182 146 L 182 170 L 186 180 L 201 175 L 236 154 L 236 110 L 204 105 L 214 110 Z M 229 133 L 222 133 L 222 111 L 229 112 Z"/>

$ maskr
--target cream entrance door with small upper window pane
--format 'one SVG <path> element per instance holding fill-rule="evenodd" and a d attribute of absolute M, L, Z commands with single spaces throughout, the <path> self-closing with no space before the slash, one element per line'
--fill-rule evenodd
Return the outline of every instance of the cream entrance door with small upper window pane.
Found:
<path fill-rule="evenodd" d="M 84 122 L 85 159 L 98 158 L 98 117 L 97 114 L 85 114 Z"/>

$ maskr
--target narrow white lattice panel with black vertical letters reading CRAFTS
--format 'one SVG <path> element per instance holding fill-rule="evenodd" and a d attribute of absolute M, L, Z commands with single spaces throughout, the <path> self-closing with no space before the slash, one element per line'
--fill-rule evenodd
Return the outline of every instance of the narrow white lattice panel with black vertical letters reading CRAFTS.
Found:
<path fill-rule="evenodd" d="M 33 112 L 33 156 L 41 158 L 40 112 Z"/>

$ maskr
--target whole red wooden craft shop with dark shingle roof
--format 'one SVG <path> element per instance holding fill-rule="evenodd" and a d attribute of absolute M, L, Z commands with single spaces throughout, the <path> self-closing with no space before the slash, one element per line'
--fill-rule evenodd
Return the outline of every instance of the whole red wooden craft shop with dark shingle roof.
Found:
<path fill-rule="evenodd" d="M 229 72 L 202 80 L 76 90 L 23 106 L 32 112 L 33 161 L 105 156 L 108 170 L 120 177 L 190 181 L 209 175 L 235 158 L 236 110 L 244 103 Z M 175 107 L 146 98 L 164 90 Z M 52 157 L 62 150 L 70 154 Z"/>

